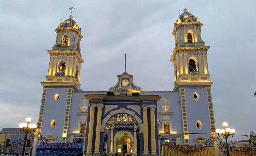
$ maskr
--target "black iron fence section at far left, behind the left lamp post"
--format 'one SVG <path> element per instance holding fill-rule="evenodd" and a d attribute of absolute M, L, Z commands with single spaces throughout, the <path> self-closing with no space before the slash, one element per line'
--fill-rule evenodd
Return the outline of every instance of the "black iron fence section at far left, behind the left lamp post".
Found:
<path fill-rule="evenodd" d="M 33 135 L 27 136 L 25 155 L 31 155 L 33 147 Z M 0 155 L 21 155 L 24 144 L 24 138 L 15 141 L 0 142 Z"/>

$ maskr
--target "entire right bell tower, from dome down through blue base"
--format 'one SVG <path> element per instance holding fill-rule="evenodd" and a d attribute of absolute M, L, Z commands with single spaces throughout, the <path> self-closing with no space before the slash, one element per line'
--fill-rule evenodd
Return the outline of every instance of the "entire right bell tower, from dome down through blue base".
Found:
<path fill-rule="evenodd" d="M 202 23 L 184 9 L 174 23 L 175 48 L 171 57 L 174 67 L 174 89 L 180 92 L 184 145 L 190 145 L 194 133 L 211 133 L 215 127 L 207 51 L 201 38 Z M 201 98 L 200 98 L 201 97 Z M 200 110 L 200 113 L 195 113 Z M 204 129 L 200 129 L 200 125 Z M 196 126 L 195 126 L 196 125 Z M 191 133 L 191 134 L 189 134 Z"/>

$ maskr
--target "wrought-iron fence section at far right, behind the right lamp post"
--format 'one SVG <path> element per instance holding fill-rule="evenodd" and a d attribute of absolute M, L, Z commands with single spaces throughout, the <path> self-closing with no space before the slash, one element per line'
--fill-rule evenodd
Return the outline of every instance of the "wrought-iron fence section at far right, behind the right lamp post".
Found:
<path fill-rule="evenodd" d="M 220 150 L 220 156 L 256 156 L 255 147 L 239 147 L 228 144 L 228 150 L 226 148 L 226 142 L 218 139 L 218 148 Z"/>

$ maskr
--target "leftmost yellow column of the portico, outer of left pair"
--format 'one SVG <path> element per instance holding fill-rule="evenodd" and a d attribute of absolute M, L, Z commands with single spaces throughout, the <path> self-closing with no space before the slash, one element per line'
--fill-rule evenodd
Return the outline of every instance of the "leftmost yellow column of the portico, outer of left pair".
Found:
<path fill-rule="evenodd" d="M 95 104 L 90 104 L 90 121 L 89 121 L 89 131 L 88 131 L 88 143 L 86 154 L 92 154 L 92 134 L 93 134 L 93 123 L 94 123 L 94 113 L 95 113 Z"/>

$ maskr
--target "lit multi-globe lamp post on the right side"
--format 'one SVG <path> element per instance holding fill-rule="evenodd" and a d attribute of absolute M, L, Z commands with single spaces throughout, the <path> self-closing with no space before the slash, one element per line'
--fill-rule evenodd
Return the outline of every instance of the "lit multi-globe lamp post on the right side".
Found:
<path fill-rule="evenodd" d="M 229 156 L 229 148 L 228 148 L 228 138 L 233 137 L 235 133 L 235 129 L 230 129 L 228 128 L 228 123 L 223 122 L 223 127 L 224 129 L 216 129 L 216 133 L 218 134 L 219 137 L 225 138 L 226 139 L 226 155 Z"/>

